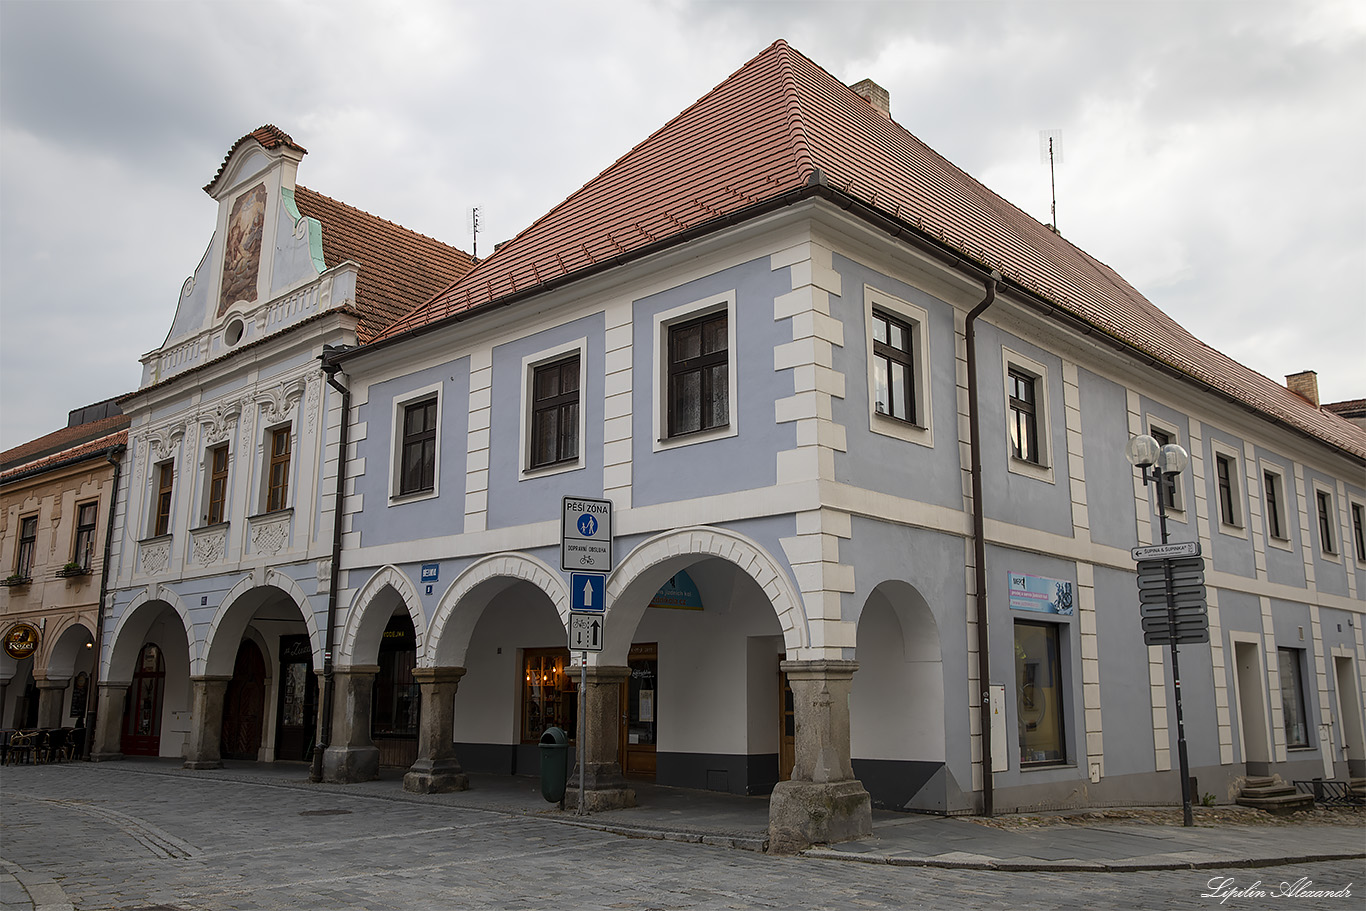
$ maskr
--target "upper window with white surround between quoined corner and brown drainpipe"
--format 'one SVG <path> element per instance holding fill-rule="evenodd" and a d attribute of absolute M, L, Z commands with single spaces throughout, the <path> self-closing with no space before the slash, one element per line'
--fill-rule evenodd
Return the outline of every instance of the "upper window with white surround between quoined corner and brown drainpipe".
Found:
<path fill-rule="evenodd" d="M 869 429 L 933 445 L 930 421 L 929 311 L 884 291 L 863 287 L 867 326 Z"/>

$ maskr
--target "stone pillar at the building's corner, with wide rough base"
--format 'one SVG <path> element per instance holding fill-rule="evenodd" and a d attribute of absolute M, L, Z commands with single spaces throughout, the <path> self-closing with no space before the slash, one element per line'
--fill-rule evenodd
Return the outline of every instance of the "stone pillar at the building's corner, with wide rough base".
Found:
<path fill-rule="evenodd" d="M 850 759 L 856 661 L 784 661 L 796 720 L 791 781 L 769 799 L 769 851 L 792 854 L 873 835 L 873 800 Z"/>

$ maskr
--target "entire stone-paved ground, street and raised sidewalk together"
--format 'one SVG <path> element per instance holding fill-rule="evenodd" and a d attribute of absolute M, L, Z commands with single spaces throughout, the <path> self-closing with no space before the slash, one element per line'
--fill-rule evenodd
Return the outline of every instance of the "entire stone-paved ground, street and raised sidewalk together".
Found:
<path fill-rule="evenodd" d="M 870 839 L 769 858 L 758 854 L 766 799 L 653 785 L 638 785 L 639 807 L 576 817 L 525 777 L 475 774 L 470 791 L 408 795 L 398 774 L 310 784 L 305 766 L 287 763 L 190 772 L 128 759 L 0 774 L 0 911 L 906 907 L 906 889 L 929 882 L 959 896 L 934 907 L 1018 908 L 1030 889 L 1048 896 L 1059 884 L 1085 891 L 1076 907 L 1146 907 L 1157 903 L 1120 884 L 1149 896 L 1158 884 L 1188 900 L 1212 882 L 1197 870 L 1244 885 L 1300 874 L 1355 884 L 1356 901 L 1340 907 L 1358 907 L 1366 892 L 1361 819 L 997 828 L 880 811 Z M 1249 870 L 1268 865 L 1292 866 Z M 807 885 L 794 888 L 794 874 Z M 542 878 L 556 882 L 553 901 Z M 657 897 L 661 881 L 673 882 L 669 901 Z M 623 900 L 607 901 L 604 889 Z"/>

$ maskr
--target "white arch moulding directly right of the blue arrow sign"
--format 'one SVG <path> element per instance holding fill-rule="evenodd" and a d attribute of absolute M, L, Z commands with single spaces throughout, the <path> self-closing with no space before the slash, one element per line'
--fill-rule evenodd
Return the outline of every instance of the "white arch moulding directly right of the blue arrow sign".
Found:
<path fill-rule="evenodd" d="M 783 564 L 757 541 L 713 526 L 665 531 L 631 550 L 607 580 L 607 615 L 616 616 L 615 621 L 607 623 L 607 628 L 616 632 L 634 631 L 650 597 L 664 580 L 699 557 L 725 560 L 758 583 L 783 627 L 783 642 L 788 653 L 795 653 L 810 642 L 802 593 Z M 598 660 L 601 664 L 624 665 L 630 647 L 630 635 L 613 638 L 609 634 Z"/>

